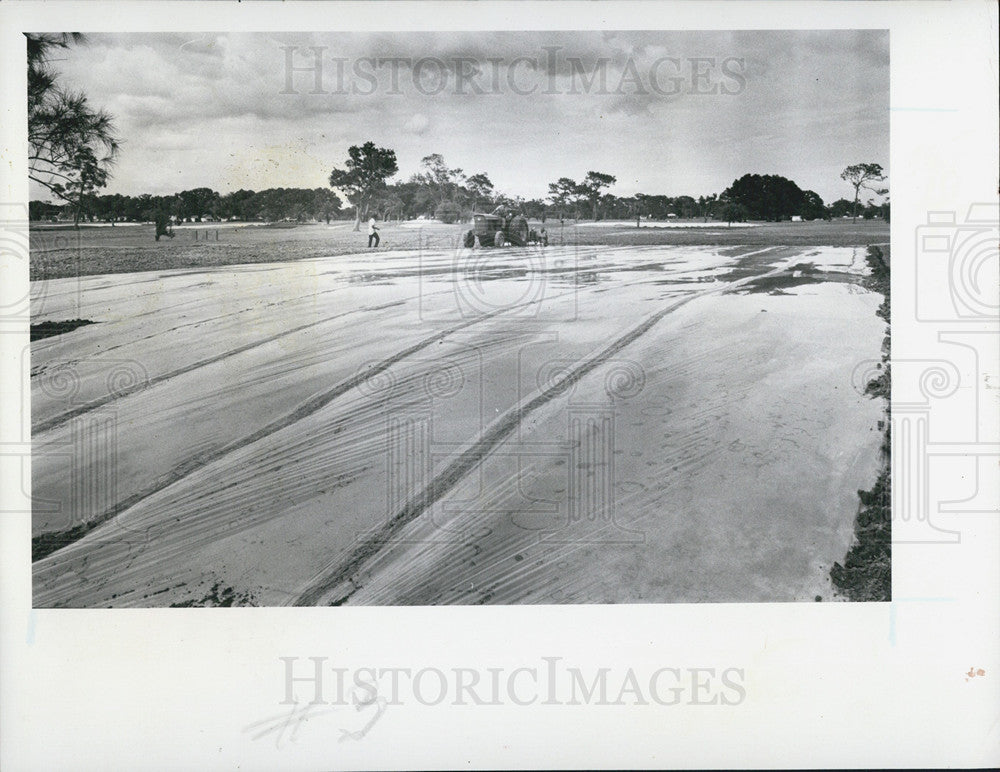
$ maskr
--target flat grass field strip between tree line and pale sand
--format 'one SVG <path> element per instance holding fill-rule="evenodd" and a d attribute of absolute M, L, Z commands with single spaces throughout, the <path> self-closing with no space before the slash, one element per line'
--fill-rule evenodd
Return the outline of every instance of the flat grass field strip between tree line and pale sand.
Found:
<path fill-rule="evenodd" d="M 682 223 L 674 223 L 679 225 Z M 882 221 L 760 223 L 757 227 L 636 228 L 632 222 L 544 227 L 553 246 L 868 246 L 889 241 Z M 540 222 L 532 227 L 540 229 Z M 382 250 L 448 249 L 461 244 L 468 224 L 387 222 L 379 225 Z M 364 229 L 335 222 L 301 226 L 205 224 L 175 228 L 173 239 L 153 238 L 152 225 L 119 227 L 32 226 L 31 280 L 332 257 L 367 250 Z"/>

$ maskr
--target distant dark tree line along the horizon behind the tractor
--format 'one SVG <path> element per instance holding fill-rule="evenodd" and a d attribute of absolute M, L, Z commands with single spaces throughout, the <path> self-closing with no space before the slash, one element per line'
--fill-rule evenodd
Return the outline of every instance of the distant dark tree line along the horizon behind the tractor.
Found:
<path fill-rule="evenodd" d="M 549 185 L 546 199 L 509 197 L 495 191 L 485 173 L 462 178 L 461 170 L 447 170 L 441 156 L 435 158 L 435 172 L 422 172 L 405 182 L 387 183 L 376 188 L 362 204 L 347 208 L 330 188 L 269 188 L 218 193 L 211 188 L 194 188 L 170 195 L 143 193 L 138 196 L 118 193 L 87 193 L 79 200 L 62 204 L 31 201 L 33 221 L 74 219 L 84 222 L 152 222 L 165 214 L 174 222 L 238 220 L 243 222 L 331 222 L 363 215 L 381 220 L 407 220 L 433 217 L 444 222 L 467 219 L 474 211 L 493 211 L 497 207 L 522 212 L 532 219 L 702 219 L 742 222 L 746 220 L 782 220 L 799 216 L 803 220 L 829 220 L 855 214 L 865 219 L 888 219 L 889 204 L 855 203 L 846 198 L 825 204 L 819 195 L 801 190 L 794 182 L 777 175 L 744 175 L 721 194 L 698 197 L 681 195 L 616 196 L 602 192 L 590 182 L 578 185 L 567 177 Z M 438 160 L 441 159 L 441 160 Z M 444 170 L 447 170 L 445 172 Z M 601 175 L 610 177 L 611 175 Z M 608 183 L 612 184 L 612 183 Z"/>

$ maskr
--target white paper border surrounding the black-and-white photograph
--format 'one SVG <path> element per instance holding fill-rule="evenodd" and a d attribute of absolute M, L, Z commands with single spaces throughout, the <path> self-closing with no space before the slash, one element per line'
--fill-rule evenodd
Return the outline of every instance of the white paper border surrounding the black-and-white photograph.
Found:
<path fill-rule="evenodd" d="M 1000 327 L 968 310 L 981 288 L 941 279 L 930 254 L 942 236 L 997 227 L 997 21 L 996 3 L 980 0 L 3 3 L 9 308 L 28 283 L 24 31 L 888 29 L 896 466 L 890 603 L 34 610 L 30 427 L 17 397 L 27 318 L 12 312 L 0 319 L 2 766 L 1000 764 Z M 744 693 L 707 705 L 411 702 L 368 727 L 377 706 L 363 699 L 282 704 L 282 657 L 297 658 L 297 677 L 317 657 L 348 673 L 449 678 L 456 668 L 544 673 L 561 658 L 588 679 L 610 668 L 616 689 L 629 669 L 695 681 L 738 670 Z"/>

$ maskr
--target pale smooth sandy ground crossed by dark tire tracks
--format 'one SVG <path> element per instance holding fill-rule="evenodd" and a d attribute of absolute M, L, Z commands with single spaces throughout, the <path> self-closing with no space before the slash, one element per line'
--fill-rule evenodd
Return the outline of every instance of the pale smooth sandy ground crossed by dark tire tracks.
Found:
<path fill-rule="evenodd" d="M 33 321 L 95 324 L 31 347 L 33 529 L 76 528 L 35 605 L 830 599 L 878 468 L 863 252 L 36 282 Z"/>

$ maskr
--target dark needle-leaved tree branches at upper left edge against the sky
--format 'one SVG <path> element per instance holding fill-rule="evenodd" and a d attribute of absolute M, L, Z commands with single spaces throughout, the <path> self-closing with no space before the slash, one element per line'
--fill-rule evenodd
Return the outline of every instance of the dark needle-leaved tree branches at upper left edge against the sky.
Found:
<path fill-rule="evenodd" d="M 119 150 L 111 116 L 91 108 L 82 93 L 58 85 L 53 51 L 82 35 L 25 34 L 28 49 L 28 178 L 73 206 L 79 223 L 84 199 L 104 187 Z"/>

